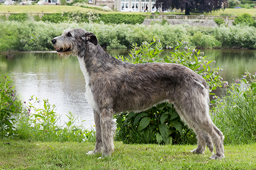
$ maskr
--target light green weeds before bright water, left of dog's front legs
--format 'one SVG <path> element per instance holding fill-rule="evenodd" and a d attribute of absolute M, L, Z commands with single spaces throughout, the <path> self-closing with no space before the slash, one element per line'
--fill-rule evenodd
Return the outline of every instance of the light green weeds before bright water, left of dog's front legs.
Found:
<path fill-rule="evenodd" d="M 43 102 L 43 107 L 37 104 Z M 26 103 L 26 102 L 25 102 Z M 35 141 L 94 141 L 95 134 L 91 130 L 83 130 L 83 126 L 75 125 L 77 118 L 71 112 L 65 125 L 58 125 L 59 116 L 55 113 L 55 105 L 49 104 L 47 99 L 41 101 L 37 97 L 31 96 L 28 106 L 20 115 L 17 127 L 17 134 L 20 139 L 30 139 Z"/>

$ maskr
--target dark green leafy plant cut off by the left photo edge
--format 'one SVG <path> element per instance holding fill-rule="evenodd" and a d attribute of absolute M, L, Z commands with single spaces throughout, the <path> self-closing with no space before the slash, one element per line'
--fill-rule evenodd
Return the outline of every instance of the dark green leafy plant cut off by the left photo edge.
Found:
<path fill-rule="evenodd" d="M 15 117 L 22 111 L 22 104 L 17 100 L 17 90 L 13 85 L 13 80 L 9 75 L 2 75 L 4 83 L 0 82 L 0 136 L 10 137 L 14 134 Z"/>

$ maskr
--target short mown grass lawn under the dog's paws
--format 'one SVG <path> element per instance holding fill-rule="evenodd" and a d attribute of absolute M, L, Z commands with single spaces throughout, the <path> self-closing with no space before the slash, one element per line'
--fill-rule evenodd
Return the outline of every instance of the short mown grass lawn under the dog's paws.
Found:
<path fill-rule="evenodd" d="M 85 153 L 94 143 L 0 140 L 0 169 L 256 169 L 256 144 L 225 146 L 225 159 L 210 160 L 196 146 L 124 145 L 115 142 L 111 157 Z"/>

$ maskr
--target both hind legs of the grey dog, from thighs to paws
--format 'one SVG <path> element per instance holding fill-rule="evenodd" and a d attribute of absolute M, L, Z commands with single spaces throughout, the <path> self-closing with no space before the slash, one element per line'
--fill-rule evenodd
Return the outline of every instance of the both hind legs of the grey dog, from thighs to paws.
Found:
<path fill-rule="evenodd" d="M 174 106 L 181 119 L 187 122 L 189 128 L 193 129 L 197 134 L 198 147 L 193 152 L 196 154 L 202 153 L 205 145 L 213 152 L 213 142 L 216 148 L 216 154 L 212 155 L 210 159 L 224 158 L 224 137 L 222 132 L 213 124 L 208 112 L 208 106 L 198 105 L 194 107 L 190 105 L 190 107 L 186 107 L 188 106 L 186 105 L 181 107 L 178 103 L 174 103 Z"/>

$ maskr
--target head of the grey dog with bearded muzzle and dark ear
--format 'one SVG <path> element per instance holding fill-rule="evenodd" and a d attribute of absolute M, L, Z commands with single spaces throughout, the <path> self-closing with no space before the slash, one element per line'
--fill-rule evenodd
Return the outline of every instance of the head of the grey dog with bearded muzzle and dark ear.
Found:
<path fill-rule="evenodd" d="M 78 55 L 87 46 L 97 45 L 96 36 L 83 29 L 68 29 L 61 36 L 52 39 L 52 44 L 61 57 Z"/>

